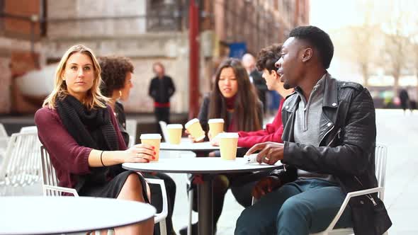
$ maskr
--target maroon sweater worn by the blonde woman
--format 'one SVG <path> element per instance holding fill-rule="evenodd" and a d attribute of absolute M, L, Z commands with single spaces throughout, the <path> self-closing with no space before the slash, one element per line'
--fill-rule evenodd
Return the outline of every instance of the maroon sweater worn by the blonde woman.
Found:
<path fill-rule="evenodd" d="M 109 112 L 113 113 L 108 106 Z M 125 150 L 126 145 L 118 127 L 115 115 L 111 122 L 118 135 L 119 149 Z M 61 187 L 74 188 L 77 184 L 75 175 L 90 173 L 89 154 L 91 148 L 79 146 L 75 139 L 67 132 L 57 110 L 41 108 L 35 113 L 35 125 L 38 127 L 38 137 L 50 154 L 52 166 L 60 180 Z"/>

